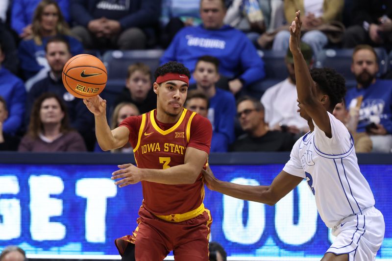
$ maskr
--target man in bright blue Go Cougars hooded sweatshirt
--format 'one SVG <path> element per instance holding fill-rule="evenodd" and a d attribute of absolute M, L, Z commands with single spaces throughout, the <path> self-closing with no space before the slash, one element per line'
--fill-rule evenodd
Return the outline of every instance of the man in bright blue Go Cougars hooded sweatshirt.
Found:
<path fill-rule="evenodd" d="M 177 61 L 193 73 L 200 56 L 215 56 L 220 61 L 219 72 L 228 78 L 233 94 L 264 78 L 264 63 L 256 48 L 243 32 L 223 25 L 225 14 L 224 0 L 201 0 L 203 24 L 182 28 L 163 54 L 161 64 Z"/>

